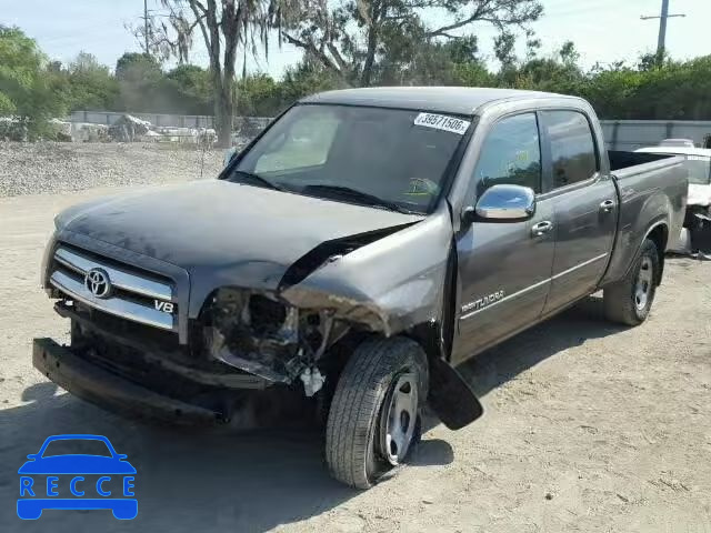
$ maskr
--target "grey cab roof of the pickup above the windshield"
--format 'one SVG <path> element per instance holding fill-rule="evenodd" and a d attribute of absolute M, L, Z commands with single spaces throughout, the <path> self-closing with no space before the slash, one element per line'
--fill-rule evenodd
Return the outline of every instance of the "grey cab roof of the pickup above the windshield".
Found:
<path fill-rule="evenodd" d="M 300 102 L 400 108 L 471 115 L 478 108 L 488 103 L 532 98 L 570 97 L 552 92 L 475 87 L 373 87 L 320 92 L 303 98 Z"/>

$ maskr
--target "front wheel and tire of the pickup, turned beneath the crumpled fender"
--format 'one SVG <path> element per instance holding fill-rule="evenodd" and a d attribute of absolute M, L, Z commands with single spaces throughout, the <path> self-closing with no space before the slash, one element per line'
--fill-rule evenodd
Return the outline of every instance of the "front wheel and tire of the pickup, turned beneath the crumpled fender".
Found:
<path fill-rule="evenodd" d="M 419 439 L 428 362 L 411 339 L 367 341 L 339 379 L 326 429 L 331 475 L 369 489 L 401 463 Z"/>

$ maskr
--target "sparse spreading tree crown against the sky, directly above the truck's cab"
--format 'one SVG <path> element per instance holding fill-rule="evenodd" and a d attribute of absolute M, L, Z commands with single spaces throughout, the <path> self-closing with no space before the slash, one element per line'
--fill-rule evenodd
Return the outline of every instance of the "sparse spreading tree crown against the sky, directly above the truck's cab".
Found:
<path fill-rule="evenodd" d="M 425 14 L 433 10 L 448 20 L 427 24 Z M 368 87 L 377 82 L 378 63 L 392 61 L 389 53 L 395 48 L 457 39 L 457 32 L 475 23 L 501 31 L 525 27 L 542 12 L 538 0 L 319 0 L 308 2 L 299 26 L 282 36 L 346 82 Z"/>

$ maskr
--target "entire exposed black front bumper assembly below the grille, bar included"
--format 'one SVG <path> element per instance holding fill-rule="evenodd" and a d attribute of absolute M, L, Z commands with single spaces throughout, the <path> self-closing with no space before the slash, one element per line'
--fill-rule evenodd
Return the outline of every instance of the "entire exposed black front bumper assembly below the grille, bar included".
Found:
<path fill-rule="evenodd" d="M 54 309 L 71 320 L 71 344 L 36 339 L 34 366 L 62 389 L 110 411 L 178 424 L 220 423 L 232 418 L 250 391 L 271 384 L 193 358 L 172 336 L 152 336 L 171 333 L 88 314 L 64 302 Z"/>

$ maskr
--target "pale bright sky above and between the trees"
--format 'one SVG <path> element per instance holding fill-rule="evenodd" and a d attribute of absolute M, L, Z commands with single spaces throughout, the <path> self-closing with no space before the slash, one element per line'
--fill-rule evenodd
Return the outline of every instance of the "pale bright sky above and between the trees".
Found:
<path fill-rule="evenodd" d="M 659 20 L 644 21 L 640 16 L 658 16 L 661 0 L 542 0 L 542 3 L 544 14 L 532 24 L 543 44 L 542 56 L 554 53 L 571 40 L 583 67 L 590 68 L 595 62 L 634 63 L 642 53 L 657 47 Z M 159 9 L 158 0 L 149 0 L 151 8 Z M 687 16 L 668 21 L 667 49 L 672 58 L 711 54 L 711 0 L 670 0 L 670 13 Z M 80 51 L 87 51 L 111 68 L 124 52 L 140 51 L 127 24 L 140 23 L 142 14 L 142 0 L 0 0 L 0 24 L 21 28 L 51 59 L 68 62 Z M 482 54 L 495 68 L 492 40 L 497 31 L 480 23 L 471 26 L 470 33 L 479 37 Z M 279 47 L 276 37 L 271 41 L 268 60 L 263 54 L 248 57 L 248 72 L 267 72 L 279 78 L 286 68 L 299 61 L 298 49 Z M 200 34 L 194 43 L 191 62 L 207 66 Z M 519 44 L 522 53 L 523 43 Z M 241 70 L 238 60 L 237 71 Z"/>

